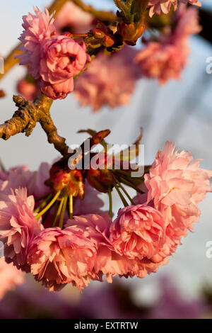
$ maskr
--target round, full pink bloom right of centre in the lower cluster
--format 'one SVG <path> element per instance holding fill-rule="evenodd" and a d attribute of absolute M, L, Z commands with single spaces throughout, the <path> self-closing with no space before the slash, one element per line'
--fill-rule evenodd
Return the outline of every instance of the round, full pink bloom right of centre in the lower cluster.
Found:
<path fill-rule="evenodd" d="M 163 216 L 147 205 L 119 209 L 110 227 L 110 242 L 116 252 L 129 259 L 151 259 L 165 242 Z"/>

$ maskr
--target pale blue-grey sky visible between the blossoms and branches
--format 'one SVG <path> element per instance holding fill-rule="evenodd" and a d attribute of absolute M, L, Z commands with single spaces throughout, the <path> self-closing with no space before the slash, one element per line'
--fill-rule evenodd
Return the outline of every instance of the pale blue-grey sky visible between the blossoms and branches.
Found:
<path fill-rule="evenodd" d="M 44 0 L 2 2 L 0 55 L 6 56 L 17 44 L 23 30 L 21 17 L 32 11 L 33 6 L 43 9 L 48 3 Z M 114 8 L 112 1 L 86 2 L 99 8 Z M 211 1 L 206 0 L 206 4 L 211 6 Z M 110 128 L 110 142 L 130 144 L 143 126 L 146 164 L 153 162 L 155 153 L 159 148 L 163 148 L 166 140 L 171 140 L 175 141 L 180 149 L 191 150 L 194 157 L 204 159 L 202 166 L 212 169 L 212 74 L 206 74 L 206 58 L 212 57 L 212 47 L 198 37 L 192 38 L 190 44 L 192 52 L 182 79 L 170 81 L 166 86 L 158 86 L 156 81 L 141 79 L 129 106 L 114 110 L 102 108 L 102 111 L 93 113 L 89 107 L 78 106 L 78 102 L 71 95 L 64 101 L 54 102 L 52 118 L 59 133 L 67 138 L 68 144 L 80 144 L 85 136 L 76 134 L 77 130 Z M 0 89 L 4 88 L 7 93 L 6 98 L 0 102 L 0 123 L 11 118 L 15 111 L 11 97 L 16 94 L 16 83 L 24 74 L 25 69 L 16 66 L 0 82 Z M 31 169 L 36 169 L 40 162 L 51 163 L 58 154 L 47 143 L 45 133 L 40 130 L 40 125 L 37 125 L 29 138 L 20 134 L 7 142 L 1 140 L 0 156 L 6 167 L 28 164 Z M 208 194 L 200 205 L 202 215 L 199 225 L 195 225 L 195 232 L 189 233 L 183 240 L 184 245 L 177 249 L 175 256 L 170 259 L 170 264 L 143 281 L 134 278 L 124 282 L 133 283 L 139 303 L 153 298 L 158 276 L 164 274 L 173 276 L 179 288 L 188 296 L 198 294 L 207 281 L 212 285 L 212 259 L 206 258 L 206 242 L 212 240 L 211 202 L 212 195 Z M 116 205 L 118 208 L 118 201 Z"/>

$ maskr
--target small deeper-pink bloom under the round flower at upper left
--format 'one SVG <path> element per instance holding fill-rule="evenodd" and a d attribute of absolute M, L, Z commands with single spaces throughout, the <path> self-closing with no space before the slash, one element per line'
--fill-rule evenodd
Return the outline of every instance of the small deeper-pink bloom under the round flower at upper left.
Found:
<path fill-rule="evenodd" d="M 41 80 L 40 89 L 51 99 L 64 99 L 73 91 L 73 77 L 59 84 L 50 84 Z"/>

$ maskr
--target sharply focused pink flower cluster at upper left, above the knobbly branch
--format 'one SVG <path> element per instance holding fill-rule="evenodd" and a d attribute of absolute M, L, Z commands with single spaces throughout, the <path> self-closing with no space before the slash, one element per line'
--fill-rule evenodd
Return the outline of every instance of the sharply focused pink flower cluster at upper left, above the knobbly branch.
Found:
<path fill-rule="evenodd" d="M 56 35 L 54 19 L 46 10 L 34 9 L 35 15 L 23 16 L 24 31 L 20 64 L 40 81 L 42 92 L 52 99 L 65 98 L 73 91 L 73 77 L 86 68 L 90 56 L 85 43 L 77 43 L 66 35 Z"/>

